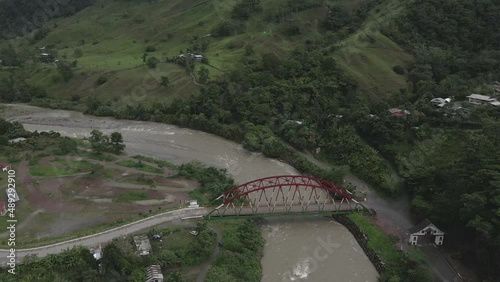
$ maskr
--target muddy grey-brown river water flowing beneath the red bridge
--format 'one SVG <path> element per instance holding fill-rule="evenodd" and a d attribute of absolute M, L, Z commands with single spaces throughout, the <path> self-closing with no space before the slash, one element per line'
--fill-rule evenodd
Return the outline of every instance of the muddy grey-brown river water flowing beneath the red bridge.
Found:
<path fill-rule="evenodd" d="M 240 144 L 172 125 L 86 116 L 78 112 L 25 105 L 8 106 L 0 115 L 30 131 L 88 136 L 92 129 L 122 133 L 127 153 L 175 164 L 197 160 L 226 168 L 238 183 L 273 175 L 296 174 L 280 161 L 250 153 Z M 377 281 L 378 274 L 354 237 L 326 217 L 268 218 L 262 282 Z"/>

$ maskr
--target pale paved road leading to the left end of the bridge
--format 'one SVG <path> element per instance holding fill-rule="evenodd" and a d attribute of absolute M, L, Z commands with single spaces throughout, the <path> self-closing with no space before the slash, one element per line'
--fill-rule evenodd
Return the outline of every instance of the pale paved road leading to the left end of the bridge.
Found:
<path fill-rule="evenodd" d="M 195 217 L 207 214 L 209 212 L 208 209 L 205 208 L 185 208 L 170 212 L 161 213 L 152 217 L 148 217 L 145 219 L 141 219 L 139 221 L 126 224 L 124 226 L 120 226 L 117 228 L 113 228 L 111 230 L 103 231 L 97 234 L 56 243 L 48 246 L 30 248 L 30 249 L 19 249 L 16 250 L 16 261 L 19 263 L 25 256 L 30 254 L 36 254 L 38 257 L 43 257 L 48 254 L 56 254 L 64 251 L 66 249 L 71 249 L 74 246 L 84 246 L 91 247 L 95 246 L 99 243 L 105 243 L 113 240 L 114 238 L 118 238 L 121 236 L 125 236 L 134 232 L 138 232 L 143 229 L 151 228 L 155 225 L 162 224 L 165 222 L 173 221 L 180 218 L 185 217 Z M 7 263 L 7 255 L 9 255 L 9 250 L 0 249 L 0 264 L 5 265 Z"/>

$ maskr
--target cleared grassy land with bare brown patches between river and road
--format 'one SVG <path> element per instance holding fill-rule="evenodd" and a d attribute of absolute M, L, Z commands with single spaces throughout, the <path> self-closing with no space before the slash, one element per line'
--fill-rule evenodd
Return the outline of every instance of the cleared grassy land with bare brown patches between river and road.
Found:
<path fill-rule="evenodd" d="M 38 142 L 49 144 L 45 139 L 51 137 Z M 69 155 L 52 155 L 52 149 L 49 145 L 14 162 L 0 156 L 0 163 L 16 170 L 21 198 L 15 212 L 20 242 L 46 241 L 131 216 L 176 208 L 198 187 L 196 181 L 176 179 L 173 165 L 166 168 L 147 158 L 95 155 L 85 148 Z M 1 176 L 0 185 L 6 187 L 7 178 Z M 0 227 L 6 224 L 3 217 Z M 6 244 L 6 236 L 0 233 L 0 244 Z"/>

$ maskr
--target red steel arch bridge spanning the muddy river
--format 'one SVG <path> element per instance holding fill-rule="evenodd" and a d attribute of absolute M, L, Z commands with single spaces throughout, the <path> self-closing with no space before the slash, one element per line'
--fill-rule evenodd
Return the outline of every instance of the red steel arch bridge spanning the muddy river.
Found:
<path fill-rule="evenodd" d="M 253 180 L 224 192 L 214 201 L 221 199 L 222 204 L 205 215 L 205 219 L 342 214 L 367 210 L 340 185 L 302 175 Z"/>

